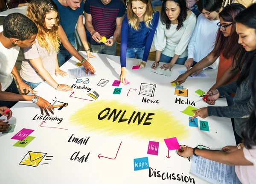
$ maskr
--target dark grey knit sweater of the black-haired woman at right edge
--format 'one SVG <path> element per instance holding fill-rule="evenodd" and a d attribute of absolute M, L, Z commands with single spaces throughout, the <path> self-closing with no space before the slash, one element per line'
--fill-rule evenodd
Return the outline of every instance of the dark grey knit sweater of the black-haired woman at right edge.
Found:
<path fill-rule="evenodd" d="M 236 80 L 230 84 L 218 88 L 220 96 L 236 93 L 234 97 L 234 105 L 225 107 L 209 106 L 208 116 L 218 116 L 226 118 L 234 118 L 236 133 L 241 137 L 241 125 L 250 116 L 253 109 L 253 99 L 251 97 L 251 89 L 249 80 L 244 80 L 240 86 Z"/>

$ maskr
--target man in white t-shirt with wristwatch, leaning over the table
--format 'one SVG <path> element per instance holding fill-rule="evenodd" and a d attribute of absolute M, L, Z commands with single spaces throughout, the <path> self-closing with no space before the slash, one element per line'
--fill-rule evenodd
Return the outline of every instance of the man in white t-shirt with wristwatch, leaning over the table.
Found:
<path fill-rule="evenodd" d="M 9 14 L 3 21 L 3 26 L 0 26 L 0 107 L 11 108 L 17 101 L 32 101 L 41 108 L 42 114 L 44 109 L 49 116 L 47 110 L 53 114 L 52 105 L 39 96 L 20 95 L 12 77 L 13 74 L 17 79 L 20 91 L 36 93 L 22 81 L 15 67 L 15 62 L 20 47 L 28 48 L 33 45 L 37 33 L 38 28 L 35 23 L 20 13 Z"/>

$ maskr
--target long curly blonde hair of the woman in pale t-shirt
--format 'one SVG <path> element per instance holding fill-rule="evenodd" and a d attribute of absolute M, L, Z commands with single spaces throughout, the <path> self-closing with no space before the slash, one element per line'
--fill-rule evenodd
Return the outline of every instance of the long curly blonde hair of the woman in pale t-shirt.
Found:
<path fill-rule="evenodd" d="M 59 15 L 51 29 L 48 29 L 45 25 L 46 14 L 52 11 L 58 12 L 58 7 L 52 0 L 32 0 L 26 11 L 26 16 L 38 27 L 36 37 L 38 44 L 42 48 L 46 48 L 48 53 L 58 52 L 61 44 L 58 31 Z"/>

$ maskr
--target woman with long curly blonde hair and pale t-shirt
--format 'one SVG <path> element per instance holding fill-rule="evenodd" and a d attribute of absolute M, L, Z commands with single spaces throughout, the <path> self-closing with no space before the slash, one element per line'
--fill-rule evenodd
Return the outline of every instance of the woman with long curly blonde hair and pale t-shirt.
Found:
<path fill-rule="evenodd" d="M 70 86 L 58 84 L 51 76 L 67 75 L 60 70 L 57 59 L 60 45 L 58 7 L 52 0 L 32 0 L 26 14 L 37 25 L 38 35 L 34 45 L 22 49 L 25 59 L 20 76 L 32 89 L 47 81 L 56 90 L 72 91 Z"/>

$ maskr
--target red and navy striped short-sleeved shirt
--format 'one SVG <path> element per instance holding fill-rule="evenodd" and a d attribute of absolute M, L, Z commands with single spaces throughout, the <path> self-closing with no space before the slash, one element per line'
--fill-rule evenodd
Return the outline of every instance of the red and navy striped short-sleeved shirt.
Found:
<path fill-rule="evenodd" d="M 91 14 L 94 30 L 108 39 L 116 30 L 116 18 L 125 14 L 125 5 L 122 0 L 111 0 L 107 5 L 103 4 L 101 0 L 86 0 L 84 11 Z M 99 45 L 92 38 L 91 44 Z"/>

